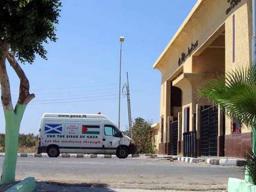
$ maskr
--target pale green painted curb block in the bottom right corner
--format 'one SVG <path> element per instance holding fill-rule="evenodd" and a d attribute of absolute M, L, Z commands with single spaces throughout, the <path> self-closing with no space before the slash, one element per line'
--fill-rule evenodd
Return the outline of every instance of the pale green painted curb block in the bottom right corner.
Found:
<path fill-rule="evenodd" d="M 228 192 L 256 192 L 256 185 L 245 180 L 229 178 Z"/>

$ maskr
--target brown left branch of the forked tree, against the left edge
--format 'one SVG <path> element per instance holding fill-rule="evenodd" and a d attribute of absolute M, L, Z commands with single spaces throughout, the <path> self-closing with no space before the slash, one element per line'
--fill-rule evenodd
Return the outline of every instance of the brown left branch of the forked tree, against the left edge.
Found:
<path fill-rule="evenodd" d="M 6 57 L 8 55 L 9 44 L 1 41 L 0 46 L 1 46 L 0 83 L 1 83 L 1 92 L 2 92 L 1 101 L 4 109 L 13 110 L 9 77 L 6 71 Z"/>

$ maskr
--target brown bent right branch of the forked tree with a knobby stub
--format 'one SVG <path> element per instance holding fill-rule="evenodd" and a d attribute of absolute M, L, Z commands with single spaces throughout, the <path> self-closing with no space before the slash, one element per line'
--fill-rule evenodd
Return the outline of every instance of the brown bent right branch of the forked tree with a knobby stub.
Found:
<path fill-rule="evenodd" d="M 18 104 L 20 105 L 27 105 L 32 99 L 35 98 L 35 94 L 29 94 L 29 81 L 22 70 L 21 66 L 17 62 L 16 58 L 13 55 L 14 52 L 8 52 L 7 60 L 9 61 L 10 65 L 12 66 L 13 70 L 16 72 L 17 76 L 19 77 L 19 98 Z"/>

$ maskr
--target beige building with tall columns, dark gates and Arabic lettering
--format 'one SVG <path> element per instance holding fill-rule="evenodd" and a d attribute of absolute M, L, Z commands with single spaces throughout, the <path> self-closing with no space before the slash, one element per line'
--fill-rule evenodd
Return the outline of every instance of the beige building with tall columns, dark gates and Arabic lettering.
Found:
<path fill-rule="evenodd" d="M 251 37 L 250 0 L 198 0 L 153 66 L 162 75 L 159 153 L 242 157 L 252 145 L 252 130 L 198 95 L 211 78 L 250 65 Z"/>

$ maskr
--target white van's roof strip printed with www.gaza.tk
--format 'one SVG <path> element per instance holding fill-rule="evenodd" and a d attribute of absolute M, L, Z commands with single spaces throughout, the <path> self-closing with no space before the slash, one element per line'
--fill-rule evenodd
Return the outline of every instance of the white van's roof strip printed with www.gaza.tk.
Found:
<path fill-rule="evenodd" d="M 55 117 L 55 118 L 92 118 L 92 119 L 109 119 L 106 115 L 102 114 L 64 114 L 64 113 L 44 113 L 42 117 Z"/>

